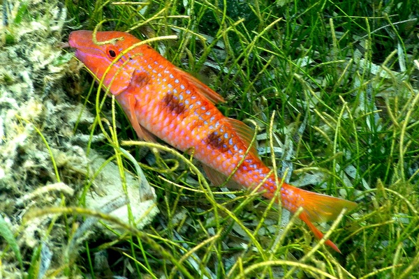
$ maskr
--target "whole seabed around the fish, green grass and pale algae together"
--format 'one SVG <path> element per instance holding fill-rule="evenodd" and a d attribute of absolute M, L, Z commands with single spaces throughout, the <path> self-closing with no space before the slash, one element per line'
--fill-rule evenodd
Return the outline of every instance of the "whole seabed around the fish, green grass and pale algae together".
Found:
<path fill-rule="evenodd" d="M 419 278 L 419 3 L 8 1 L 0 278 Z M 138 141 L 73 50 L 128 31 L 226 100 L 279 179 L 358 207 L 316 224 Z"/>

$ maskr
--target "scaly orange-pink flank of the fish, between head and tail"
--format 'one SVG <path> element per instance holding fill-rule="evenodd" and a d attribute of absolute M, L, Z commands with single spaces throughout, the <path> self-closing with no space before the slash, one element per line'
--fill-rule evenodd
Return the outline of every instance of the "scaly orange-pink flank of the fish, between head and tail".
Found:
<path fill-rule="evenodd" d="M 156 73 L 147 74 L 156 75 Z M 166 74 L 172 75 L 168 70 L 166 70 Z M 156 77 L 151 77 L 151 79 L 154 80 Z M 184 140 L 177 140 L 172 143 L 177 149 L 185 151 L 186 149 L 194 148 L 194 156 L 201 162 L 210 165 L 214 169 L 219 168 L 221 164 L 223 168 L 227 169 L 225 172 L 233 172 L 235 166 L 242 160 L 247 146 L 244 146 L 240 141 L 236 133 L 233 132 L 233 128 L 223 123 L 224 116 L 219 110 L 212 103 L 203 100 L 196 92 L 189 91 L 189 93 L 186 93 L 186 87 L 184 86 L 186 82 L 184 81 L 177 82 L 177 87 L 169 86 L 170 83 L 167 86 L 159 86 L 159 80 L 157 83 L 158 85 L 154 90 L 147 90 L 144 87 L 138 88 L 141 86 L 128 88 L 117 96 L 117 100 L 119 103 L 124 103 L 124 100 L 128 99 L 128 95 L 134 96 L 135 100 L 137 100 L 135 102 L 137 119 L 152 119 L 152 121 L 139 120 L 141 126 L 166 142 L 173 142 L 174 135 L 180 135 Z M 159 92 L 158 96 L 150 96 L 154 91 Z M 170 97 L 172 103 L 177 103 L 177 105 L 172 105 L 172 107 L 184 107 L 182 112 L 170 109 L 170 105 L 164 101 L 168 94 L 173 96 Z M 145 100 L 153 100 L 153 102 L 150 103 Z M 189 105 L 186 105 L 186 103 Z M 128 105 L 123 105 L 123 107 L 128 107 Z M 228 130 L 230 130 L 230 133 L 226 132 Z M 214 149 L 208 144 L 207 139 L 209 135 L 220 136 L 216 137 L 216 139 L 219 144 L 221 144 L 222 140 L 221 148 Z M 224 138 L 222 139 L 222 137 Z M 208 150 L 210 150 L 210 153 Z M 235 150 L 238 154 L 236 154 Z M 251 154 L 247 157 L 247 162 L 239 167 L 235 179 L 247 181 L 247 184 L 249 181 L 252 181 L 257 185 L 269 172 L 269 169 L 265 167 L 265 175 L 258 176 L 257 180 L 255 180 L 254 176 L 249 180 L 251 172 L 246 169 L 251 169 L 250 165 L 256 166 L 258 158 L 251 158 Z M 262 169 L 259 168 L 259 170 L 261 171 Z M 242 178 L 242 176 L 246 177 Z"/>

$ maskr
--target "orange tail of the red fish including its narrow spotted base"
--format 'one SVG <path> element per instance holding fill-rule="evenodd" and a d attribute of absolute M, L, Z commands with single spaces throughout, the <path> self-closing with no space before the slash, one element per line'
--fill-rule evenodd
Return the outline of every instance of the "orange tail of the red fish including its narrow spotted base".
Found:
<path fill-rule="evenodd" d="M 285 207 L 291 207 L 290 210 L 292 212 L 295 212 L 300 206 L 304 209 L 299 217 L 309 226 L 309 229 L 317 239 L 322 239 L 323 233 L 313 223 L 335 220 L 342 209 L 346 208 L 348 211 L 351 211 L 357 206 L 355 202 L 350 202 L 346 199 L 302 190 L 288 184 L 284 184 L 284 186 L 281 189 L 281 193 L 283 194 L 282 203 L 284 205 L 288 203 L 288 206 Z M 284 201 L 284 198 L 286 201 Z M 289 206 L 290 204 L 292 206 Z M 327 240 L 325 244 L 332 247 L 335 251 L 340 252 L 339 248 L 332 241 Z"/>

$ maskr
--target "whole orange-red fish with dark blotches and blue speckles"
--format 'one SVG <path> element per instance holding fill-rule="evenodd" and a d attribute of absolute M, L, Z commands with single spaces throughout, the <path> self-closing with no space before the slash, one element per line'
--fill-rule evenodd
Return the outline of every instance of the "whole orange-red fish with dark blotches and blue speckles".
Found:
<path fill-rule="evenodd" d="M 94 38 L 94 36 L 96 36 Z M 99 43 L 98 43 L 99 42 Z M 251 145 L 253 130 L 242 121 L 224 116 L 216 104 L 223 97 L 193 75 L 170 63 L 135 36 L 121 31 L 73 31 L 68 46 L 97 80 L 115 96 L 141 140 L 159 138 L 179 151 L 193 150 L 210 181 L 231 179 L 263 197 L 277 198 L 288 211 L 302 207 L 299 218 L 317 239 L 323 233 L 313 224 L 335 220 L 355 202 L 291 186 L 280 180 L 279 197 L 272 171 Z M 330 241 L 325 244 L 341 252 Z"/>

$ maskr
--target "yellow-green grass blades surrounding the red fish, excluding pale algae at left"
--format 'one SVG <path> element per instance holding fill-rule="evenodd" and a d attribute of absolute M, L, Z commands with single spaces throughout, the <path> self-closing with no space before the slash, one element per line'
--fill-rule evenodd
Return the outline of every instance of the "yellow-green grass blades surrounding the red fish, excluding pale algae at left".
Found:
<path fill-rule="evenodd" d="M 419 276 L 419 4 L 272 2 L 66 1 L 68 33 L 99 28 L 142 39 L 176 35 L 152 46 L 226 98 L 219 105 L 226 116 L 258 128 L 260 154 L 279 178 L 359 203 L 339 222 L 321 227 L 342 254 L 259 194 L 212 186 L 191 156 L 163 142 L 132 142 L 135 132 L 122 110 L 91 86 L 85 72 L 82 103 L 96 114 L 89 129 L 105 135 L 89 147 L 135 173 L 121 149 L 130 152 L 156 189 L 161 213 L 139 232 L 82 209 L 83 195 L 79 207 L 34 212 L 80 214 L 124 227 L 112 231 L 116 239 L 87 239 L 72 247 L 80 254 L 67 253 L 52 274 Z M 282 152 L 268 152 L 272 147 Z M 84 194 L 90 181 L 85 186 Z M 68 243 L 73 236 L 69 231 Z M 100 256 L 109 264 L 102 271 L 95 265 Z M 40 258 L 34 253 L 32 264 Z"/>

